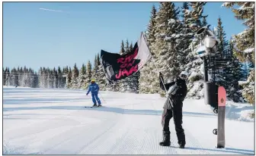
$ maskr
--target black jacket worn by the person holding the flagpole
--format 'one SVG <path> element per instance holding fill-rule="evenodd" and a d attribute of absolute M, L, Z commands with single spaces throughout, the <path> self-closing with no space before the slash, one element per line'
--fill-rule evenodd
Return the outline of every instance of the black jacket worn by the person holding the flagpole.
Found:
<path fill-rule="evenodd" d="M 162 80 L 161 80 L 161 78 L 162 78 L 162 76 L 160 75 L 159 82 L 160 82 L 160 87 L 163 90 L 165 90 L 165 88 L 166 88 L 166 90 L 168 91 L 168 89 L 171 86 L 173 86 L 175 83 L 177 86 L 179 86 L 177 92 L 174 95 L 170 95 L 169 98 L 170 98 L 171 103 L 174 106 L 174 108 L 182 108 L 184 98 L 187 95 L 186 81 L 182 80 L 180 77 L 178 77 L 176 80 L 174 80 L 171 83 L 165 83 L 164 79 L 162 78 Z M 165 87 L 164 87 L 162 81 L 165 83 Z M 166 109 L 171 109 L 171 104 L 170 104 L 169 98 L 167 98 L 165 101 L 164 108 L 166 108 Z"/>

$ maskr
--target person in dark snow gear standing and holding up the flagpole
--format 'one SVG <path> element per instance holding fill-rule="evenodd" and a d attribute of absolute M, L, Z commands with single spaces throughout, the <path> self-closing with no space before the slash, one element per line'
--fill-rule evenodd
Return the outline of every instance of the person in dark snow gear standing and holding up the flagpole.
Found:
<path fill-rule="evenodd" d="M 184 129 L 181 126 L 183 101 L 187 95 L 186 79 L 187 79 L 187 72 L 182 71 L 180 76 L 178 76 L 176 80 L 174 80 L 171 83 L 165 83 L 165 87 L 164 87 L 163 86 L 164 80 L 162 78 L 162 73 L 159 72 L 160 87 L 161 89 L 163 90 L 166 89 L 168 91 L 165 95 L 167 97 L 167 100 L 165 101 L 165 105 L 163 107 L 164 110 L 162 113 L 163 141 L 160 142 L 159 145 L 162 145 L 162 146 L 171 145 L 170 130 L 169 130 L 169 122 L 171 120 L 171 117 L 174 117 L 174 126 L 175 126 L 176 135 L 178 138 L 178 144 L 180 148 L 184 148 L 186 144 Z"/>

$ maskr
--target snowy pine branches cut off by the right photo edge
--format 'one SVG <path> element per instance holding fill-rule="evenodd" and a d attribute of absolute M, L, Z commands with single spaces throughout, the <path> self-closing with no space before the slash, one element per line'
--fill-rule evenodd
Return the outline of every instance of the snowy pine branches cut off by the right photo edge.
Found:
<path fill-rule="evenodd" d="M 222 6 L 231 8 L 238 20 L 244 20 L 243 24 L 247 28 L 242 33 L 233 36 L 233 50 L 240 61 L 250 61 L 254 67 L 254 2 L 226 2 Z M 240 8 L 235 8 L 235 6 L 240 6 Z M 243 87 L 243 97 L 254 105 L 254 69 L 251 69 L 248 80 L 240 84 Z"/>

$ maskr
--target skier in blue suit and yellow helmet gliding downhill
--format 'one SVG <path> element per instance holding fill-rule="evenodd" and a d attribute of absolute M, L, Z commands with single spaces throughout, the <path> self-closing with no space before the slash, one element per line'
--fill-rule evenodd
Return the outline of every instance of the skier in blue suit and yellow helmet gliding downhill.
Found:
<path fill-rule="evenodd" d="M 91 92 L 91 98 L 94 103 L 93 107 L 97 106 L 96 101 L 98 102 L 98 106 L 101 106 L 101 100 L 100 98 L 98 98 L 98 91 L 100 90 L 100 87 L 97 83 L 95 83 L 94 79 L 91 79 L 91 85 L 88 88 L 89 89 L 86 95 L 88 95 L 89 92 Z"/>

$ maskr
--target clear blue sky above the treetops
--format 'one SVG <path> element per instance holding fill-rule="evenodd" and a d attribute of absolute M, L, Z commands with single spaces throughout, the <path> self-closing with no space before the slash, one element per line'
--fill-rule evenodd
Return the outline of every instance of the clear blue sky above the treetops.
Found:
<path fill-rule="evenodd" d="M 119 52 L 122 39 L 136 42 L 153 4 L 158 7 L 158 2 L 4 2 L 3 65 L 80 68 L 101 49 Z M 221 5 L 208 2 L 203 12 L 212 26 L 222 18 L 229 39 L 245 27 Z"/>

